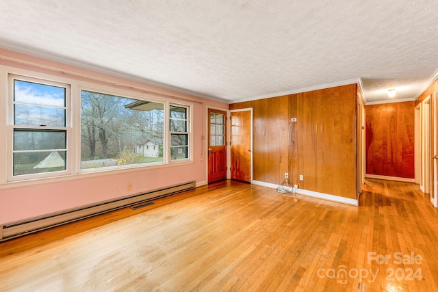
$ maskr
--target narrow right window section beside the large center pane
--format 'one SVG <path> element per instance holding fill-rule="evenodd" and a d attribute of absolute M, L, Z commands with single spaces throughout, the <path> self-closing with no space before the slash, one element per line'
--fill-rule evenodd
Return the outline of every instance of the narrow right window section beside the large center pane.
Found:
<path fill-rule="evenodd" d="M 189 158 L 188 107 L 170 105 L 170 160 Z"/>

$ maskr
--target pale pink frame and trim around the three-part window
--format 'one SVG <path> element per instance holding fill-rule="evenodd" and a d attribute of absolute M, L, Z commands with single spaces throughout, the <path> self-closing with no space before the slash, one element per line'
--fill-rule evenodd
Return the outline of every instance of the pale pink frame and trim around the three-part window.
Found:
<path fill-rule="evenodd" d="M 64 87 L 68 85 L 66 90 L 66 126 L 67 127 L 67 159 L 66 170 L 60 172 L 47 172 L 44 174 L 23 174 L 18 176 L 12 176 L 13 173 L 13 88 L 10 86 L 10 76 L 17 77 L 18 80 L 31 81 L 35 83 L 42 83 L 47 85 L 54 85 L 57 87 Z M 3 157 L 5 164 L 0 170 L 0 189 L 8 188 L 14 185 L 38 185 L 40 183 L 52 183 L 60 181 L 70 181 L 77 178 L 105 176 L 111 174 L 122 174 L 126 172 L 134 172 L 146 169 L 155 168 L 167 168 L 175 166 L 175 164 L 188 164 L 194 163 L 193 160 L 193 135 L 192 124 L 188 124 L 188 159 L 179 159 L 176 161 L 170 161 L 170 131 L 169 131 L 169 108 L 170 104 L 177 105 L 179 107 L 188 108 L 190 116 L 189 120 L 192 120 L 194 104 L 193 101 L 186 100 L 185 98 L 178 98 L 175 96 L 166 96 L 164 94 L 154 94 L 139 86 L 128 87 L 126 85 L 120 85 L 115 81 L 109 79 L 90 79 L 90 78 L 75 78 L 62 76 L 62 74 L 50 75 L 40 71 L 34 71 L 23 68 L 16 68 L 13 66 L 5 66 L 0 64 L 0 92 L 3 93 L 5 98 L 1 99 L 0 104 L 4 105 L 0 109 L 0 117 L 3 117 L 3 123 L 0 123 L 0 129 L 3 129 L 3 137 L 8 139 L 6 146 L 0 147 L 0 158 Z M 81 170 L 81 157 L 80 157 L 80 127 L 81 127 L 81 90 L 90 90 L 94 92 L 101 92 L 114 96 L 133 98 L 142 101 L 156 101 L 157 103 L 164 104 L 164 161 L 159 163 L 139 163 L 133 165 L 120 165 L 116 168 L 96 168 L 94 170 Z M 68 93 L 67 93 L 68 92 Z M 167 121 L 167 122 L 166 122 Z"/>

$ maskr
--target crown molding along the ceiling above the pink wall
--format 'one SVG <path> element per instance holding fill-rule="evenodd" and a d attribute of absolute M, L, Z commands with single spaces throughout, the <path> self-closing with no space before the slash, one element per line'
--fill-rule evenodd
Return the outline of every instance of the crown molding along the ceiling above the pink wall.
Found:
<path fill-rule="evenodd" d="M 201 94 L 199 92 L 194 92 L 191 90 L 185 90 L 183 88 L 178 88 L 176 86 L 172 86 L 172 85 L 167 85 L 164 83 L 159 83 L 156 81 L 152 81 L 149 79 L 144 79 L 141 77 L 136 77 L 133 75 L 129 75 L 123 72 L 118 72 L 116 70 L 112 70 L 109 68 L 103 68 L 100 66 L 96 66 L 93 64 L 88 64 L 85 62 L 79 62 L 75 59 L 68 59 L 66 57 L 62 57 L 60 55 L 55 55 L 55 54 L 51 54 L 45 51 L 38 51 L 36 49 L 30 49 L 29 47 L 24 47 L 24 46 L 19 46 L 17 44 L 12 44 L 10 42 L 5 42 L 3 40 L 0 40 L 0 48 L 6 49 L 6 50 L 10 50 L 10 51 L 14 51 L 16 53 L 23 53 L 25 55 L 31 55 L 33 57 L 38 57 L 41 59 L 47 59 L 49 61 L 52 62 L 57 62 L 57 63 L 61 63 L 61 64 L 65 64 L 65 65 L 69 65 L 69 66 L 74 66 L 77 68 L 81 68 L 81 69 L 85 69 L 85 70 L 90 70 L 92 72 L 97 72 L 97 73 L 101 73 L 101 74 L 105 74 L 105 75 L 109 75 L 112 77 L 118 77 L 121 79 L 125 79 L 125 80 L 129 80 L 129 81 L 134 81 L 134 82 L 138 82 L 138 83 L 142 83 L 145 85 L 151 85 L 154 86 L 156 88 L 162 88 L 165 90 L 172 90 L 174 92 L 178 92 L 181 94 L 188 94 L 191 96 L 196 96 L 196 97 L 201 97 L 201 98 L 206 98 L 209 99 L 211 101 L 218 101 L 220 103 L 229 103 L 229 101 L 227 99 L 224 98 L 218 98 L 215 96 L 209 96 L 206 94 Z"/>

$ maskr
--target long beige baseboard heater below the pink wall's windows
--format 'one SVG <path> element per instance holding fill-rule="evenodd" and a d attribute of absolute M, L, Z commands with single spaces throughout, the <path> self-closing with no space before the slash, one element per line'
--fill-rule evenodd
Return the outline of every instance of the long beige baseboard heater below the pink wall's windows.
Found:
<path fill-rule="evenodd" d="M 67 211 L 52 213 L 44 216 L 34 217 L 27 220 L 21 220 L 18 222 L 12 222 L 0 226 L 0 241 L 5 241 L 29 233 L 36 233 L 37 231 L 60 226 L 62 224 L 75 222 L 84 218 L 92 217 L 102 213 L 122 209 L 125 207 L 154 200 L 156 198 L 162 198 L 177 194 L 181 191 L 188 191 L 194 189 L 196 186 L 195 181 L 182 183 L 179 185 L 172 185 L 170 187 L 164 187 L 161 189 L 155 189 L 146 193 L 126 196 L 118 198 L 116 200 L 108 200 L 99 202 L 96 204 L 87 205 Z"/>

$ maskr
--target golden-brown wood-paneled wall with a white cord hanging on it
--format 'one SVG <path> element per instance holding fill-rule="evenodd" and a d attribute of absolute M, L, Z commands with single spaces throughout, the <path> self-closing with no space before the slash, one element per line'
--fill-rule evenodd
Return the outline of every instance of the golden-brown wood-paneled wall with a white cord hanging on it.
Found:
<path fill-rule="evenodd" d="M 280 183 L 285 172 L 302 189 L 357 198 L 357 85 L 230 105 L 253 107 L 254 179 Z M 287 144 L 291 118 L 292 140 Z M 304 181 L 299 181 L 299 176 Z"/>

